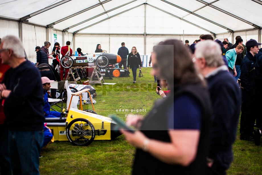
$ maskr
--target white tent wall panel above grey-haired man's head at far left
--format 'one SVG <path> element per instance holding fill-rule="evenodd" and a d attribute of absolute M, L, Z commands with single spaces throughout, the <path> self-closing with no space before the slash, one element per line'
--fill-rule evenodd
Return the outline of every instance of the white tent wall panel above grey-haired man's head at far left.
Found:
<path fill-rule="evenodd" d="M 19 37 L 18 23 L 0 19 L 0 38 L 6 35 L 15 35 Z"/>

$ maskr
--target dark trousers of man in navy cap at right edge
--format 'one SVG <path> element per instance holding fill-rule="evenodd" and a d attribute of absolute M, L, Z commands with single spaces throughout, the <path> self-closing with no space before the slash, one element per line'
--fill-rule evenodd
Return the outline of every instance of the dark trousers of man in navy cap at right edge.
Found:
<path fill-rule="evenodd" d="M 256 117 L 255 96 L 242 89 L 242 105 L 240 117 L 240 137 L 253 136 Z"/>

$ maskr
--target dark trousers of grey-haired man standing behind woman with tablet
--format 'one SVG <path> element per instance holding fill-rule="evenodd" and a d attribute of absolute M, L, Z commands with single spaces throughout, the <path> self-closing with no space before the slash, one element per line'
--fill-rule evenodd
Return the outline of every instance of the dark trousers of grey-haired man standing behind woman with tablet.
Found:
<path fill-rule="evenodd" d="M 211 167 L 207 167 L 206 174 L 209 175 L 225 175 L 226 170 L 230 167 L 233 161 L 233 152 L 220 152 L 214 157 L 214 162 Z"/>

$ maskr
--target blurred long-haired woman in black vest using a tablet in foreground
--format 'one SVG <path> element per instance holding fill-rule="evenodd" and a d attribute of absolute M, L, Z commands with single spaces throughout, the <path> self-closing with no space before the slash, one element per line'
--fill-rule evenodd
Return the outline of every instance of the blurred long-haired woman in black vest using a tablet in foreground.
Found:
<path fill-rule="evenodd" d="M 121 130 L 136 146 L 132 174 L 204 174 L 211 105 L 187 48 L 167 40 L 154 49 L 153 73 L 166 80 L 171 92 L 145 117 L 128 117 Z"/>

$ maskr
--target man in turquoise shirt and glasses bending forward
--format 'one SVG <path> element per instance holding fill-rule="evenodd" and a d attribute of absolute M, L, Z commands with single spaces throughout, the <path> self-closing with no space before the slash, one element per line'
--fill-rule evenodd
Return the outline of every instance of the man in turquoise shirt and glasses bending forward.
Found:
<path fill-rule="evenodd" d="M 228 71 L 233 74 L 234 76 L 237 76 L 237 71 L 235 67 L 235 62 L 237 55 L 242 53 L 244 50 L 244 47 L 241 44 L 238 44 L 236 48 L 230 49 L 226 52 L 226 59 L 228 60 Z"/>

